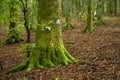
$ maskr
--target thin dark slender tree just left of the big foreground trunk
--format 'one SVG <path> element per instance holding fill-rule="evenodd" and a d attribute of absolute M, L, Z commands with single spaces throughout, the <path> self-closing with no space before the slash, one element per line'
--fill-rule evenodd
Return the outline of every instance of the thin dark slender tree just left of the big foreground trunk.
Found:
<path fill-rule="evenodd" d="M 24 26 L 26 29 L 27 33 L 27 43 L 30 43 L 30 34 L 31 34 L 31 28 L 32 28 L 32 20 L 33 15 L 32 15 L 32 5 L 35 1 L 33 0 L 19 0 L 22 4 L 22 11 L 24 14 Z M 33 19 L 34 20 L 34 19 Z"/>

